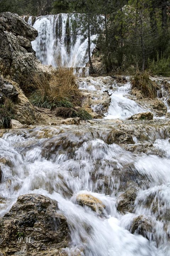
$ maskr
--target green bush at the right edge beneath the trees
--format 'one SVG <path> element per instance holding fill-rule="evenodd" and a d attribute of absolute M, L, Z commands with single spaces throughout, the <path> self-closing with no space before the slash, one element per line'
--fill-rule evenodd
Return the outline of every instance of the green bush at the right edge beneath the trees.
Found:
<path fill-rule="evenodd" d="M 170 57 L 159 58 L 157 54 L 157 60 L 148 60 L 148 68 L 154 75 L 170 76 Z"/>

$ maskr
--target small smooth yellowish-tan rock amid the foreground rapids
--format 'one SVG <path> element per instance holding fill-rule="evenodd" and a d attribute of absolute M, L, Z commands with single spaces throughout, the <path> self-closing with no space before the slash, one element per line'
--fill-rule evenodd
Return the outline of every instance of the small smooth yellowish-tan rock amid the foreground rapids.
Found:
<path fill-rule="evenodd" d="M 99 214 L 102 214 L 103 210 L 106 208 L 100 199 L 92 196 L 91 194 L 79 194 L 77 196 L 77 202 L 81 206 L 90 207 L 94 212 Z"/>

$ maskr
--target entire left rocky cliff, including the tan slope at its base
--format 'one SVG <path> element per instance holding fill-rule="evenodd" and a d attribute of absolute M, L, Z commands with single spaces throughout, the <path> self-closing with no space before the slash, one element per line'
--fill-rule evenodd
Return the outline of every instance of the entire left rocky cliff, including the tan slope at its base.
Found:
<path fill-rule="evenodd" d="M 35 123 L 37 115 L 23 91 L 29 90 L 35 73 L 51 73 L 50 67 L 36 59 L 32 49 L 31 41 L 37 35 L 17 14 L 0 14 L 0 104 L 10 98 L 14 104 L 13 118 L 24 124 Z"/>

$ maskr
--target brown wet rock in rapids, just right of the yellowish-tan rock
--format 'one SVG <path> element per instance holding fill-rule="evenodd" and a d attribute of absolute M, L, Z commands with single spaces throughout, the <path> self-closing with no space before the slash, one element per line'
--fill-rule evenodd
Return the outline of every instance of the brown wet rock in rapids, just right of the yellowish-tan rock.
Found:
<path fill-rule="evenodd" d="M 125 192 L 121 193 L 117 200 L 117 209 L 119 212 L 125 213 L 133 211 L 138 190 L 139 187 L 137 183 L 127 182 Z"/>

